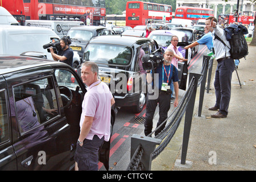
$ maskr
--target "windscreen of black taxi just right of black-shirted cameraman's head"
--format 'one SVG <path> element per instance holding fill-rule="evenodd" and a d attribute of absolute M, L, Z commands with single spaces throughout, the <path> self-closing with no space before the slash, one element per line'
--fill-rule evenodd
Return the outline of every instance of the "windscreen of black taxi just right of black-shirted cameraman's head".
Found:
<path fill-rule="evenodd" d="M 93 32 L 88 30 L 69 30 L 67 36 L 71 39 L 89 41 L 93 36 Z"/>

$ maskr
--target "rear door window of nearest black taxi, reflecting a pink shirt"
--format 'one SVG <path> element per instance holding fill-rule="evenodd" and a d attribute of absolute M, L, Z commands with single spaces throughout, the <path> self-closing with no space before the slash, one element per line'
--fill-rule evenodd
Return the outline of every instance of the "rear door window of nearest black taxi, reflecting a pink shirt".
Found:
<path fill-rule="evenodd" d="M 15 111 L 11 111 L 11 116 L 16 119 L 21 134 L 60 113 L 54 88 L 51 77 L 14 87 L 14 98 L 10 98 L 10 104 L 15 105 Z"/>

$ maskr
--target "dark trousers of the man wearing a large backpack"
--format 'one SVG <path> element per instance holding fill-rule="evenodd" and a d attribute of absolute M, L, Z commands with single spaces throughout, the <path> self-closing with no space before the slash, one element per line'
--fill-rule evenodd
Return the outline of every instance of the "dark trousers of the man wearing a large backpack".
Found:
<path fill-rule="evenodd" d="M 234 67 L 234 60 L 226 59 L 218 63 L 215 72 L 215 106 L 220 107 L 220 112 L 224 115 L 228 115 L 229 101 L 231 96 L 231 80 Z"/>

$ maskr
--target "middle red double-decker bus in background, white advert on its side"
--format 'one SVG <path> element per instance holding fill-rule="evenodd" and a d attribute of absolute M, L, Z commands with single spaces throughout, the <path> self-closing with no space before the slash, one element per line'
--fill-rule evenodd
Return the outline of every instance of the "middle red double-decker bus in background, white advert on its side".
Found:
<path fill-rule="evenodd" d="M 143 1 L 128 1 L 126 3 L 126 26 L 135 27 L 151 22 L 171 22 L 172 6 Z"/>

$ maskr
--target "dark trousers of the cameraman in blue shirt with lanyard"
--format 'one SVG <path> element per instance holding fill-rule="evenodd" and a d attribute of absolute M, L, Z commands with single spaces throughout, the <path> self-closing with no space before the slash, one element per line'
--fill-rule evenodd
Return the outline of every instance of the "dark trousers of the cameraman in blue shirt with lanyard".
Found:
<path fill-rule="evenodd" d="M 144 134 L 147 136 L 152 131 L 153 118 L 155 114 L 156 106 L 159 103 L 159 121 L 156 125 L 158 127 L 163 121 L 168 117 L 168 111 L 171 106 L 171 95 L 170 94 L 159 94 L 158 98 L 155 100 L 147 100 L 146 105 L 146 121 L 144 122 Z M 161 126 L 158 130 L 155 131 L 155 136 L 164 129 L 164 126 Z"/>

